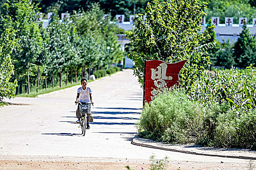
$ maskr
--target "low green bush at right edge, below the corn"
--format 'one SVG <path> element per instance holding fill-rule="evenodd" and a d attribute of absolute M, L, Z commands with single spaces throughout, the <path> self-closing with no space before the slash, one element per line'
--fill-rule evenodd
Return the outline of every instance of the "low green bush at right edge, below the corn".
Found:
<path fill-rule="evenodd" d="M 215 146 L 256 150 L 256 111 L 233 111 L 217 118 Z"/>

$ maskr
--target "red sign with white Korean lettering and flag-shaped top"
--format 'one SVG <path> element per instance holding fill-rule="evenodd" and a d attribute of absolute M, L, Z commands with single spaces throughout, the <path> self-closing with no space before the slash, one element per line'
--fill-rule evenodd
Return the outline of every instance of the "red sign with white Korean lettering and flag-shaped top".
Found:
<path fill-rule="evenodd" d="M 186 61 L 172 64 L 159 60 L 145 61 L 143 105 L 154 100 L 158 89 L 179 85 L 178 73 Z"/>

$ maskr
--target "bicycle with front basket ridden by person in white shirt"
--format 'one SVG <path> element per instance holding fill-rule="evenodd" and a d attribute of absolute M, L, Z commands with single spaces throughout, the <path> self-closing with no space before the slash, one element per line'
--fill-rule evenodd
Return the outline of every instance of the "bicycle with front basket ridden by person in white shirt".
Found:
<path fill-rule="evenodd" d="M 91 113 L 91 104 L 92 104 L 92 102 L 82 104 L 80 101 L 78 101 L 77 103 L 79 103 L 79 111 L 80 111 L 80 114 L 81 114 L 80 126 L 81 126 L 81 130 L 82 130 L 82 135 L 85 136 L 85 129 L 86 129 L 85 125 L 86 125 L 87 113 Z"/>

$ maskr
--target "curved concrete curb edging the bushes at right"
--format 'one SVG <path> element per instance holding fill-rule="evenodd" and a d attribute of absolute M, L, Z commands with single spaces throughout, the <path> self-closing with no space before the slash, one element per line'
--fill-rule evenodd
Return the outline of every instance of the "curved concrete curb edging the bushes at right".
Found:
<path fill-rule="evenodd" d="M 132 144 L 133 145 L 138 145 L 138 146 L 143 146 L 143 147 L 148 147 L 148 148 L 154 148 L 154 149 L 161 149 L 161 150 L 166 150 L 166 151 L 172 151 L 172 152 L 179 152 L 179 153 L 189 153 L 189 154 L 197 154 L 197 155 L 204 155 L 204 156 L 217 156 L 217 157 L 226 157 L 226 158 L 237 158 L 237 159 L 252 159 L 252 160 L 256 160 L 256 156 L 240 156 L 240 155 L 224 155 L 224 154 L 212 154 L 212 153 L 200 153 L 200 152 L 193 152 L 193 151 L 188 151 L 188 150 L 182 150 L 182 149 L 175 149 L 176 146 L 172 146 L 172 148 L 170 147 L 163 147 L 159 145 L 159 142 L 155 142 L 153 140 L 150 139 L 144 139 L 144 138 L 140 138 L 137 135 L 133 138 L 132 140 Z M 162 143 L 161 143 L 162 144 Z M 167 144 L 165 144 L 167 145 Z M 204 148 L 204 147 L 201 147 Z"/>

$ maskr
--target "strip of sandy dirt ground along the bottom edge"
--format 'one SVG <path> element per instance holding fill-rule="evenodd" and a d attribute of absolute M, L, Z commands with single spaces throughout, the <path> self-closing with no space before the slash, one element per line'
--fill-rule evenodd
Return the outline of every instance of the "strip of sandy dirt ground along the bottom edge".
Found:
<path fill-rule="evenodd" d="M 145 163 L 144 163 L 145 162 Z M 155 163 L 155 165 L 159 165 Z M 18 161 L 0 160 L 0 170 L 150 170 L 151 163 L 147 160 L 102 159 L 102 161 Z M 220 162 L 219 165 L 199 162 L 169 161 L 165 170 L 255 170 L 254 164 L 236 164 Z"/>

